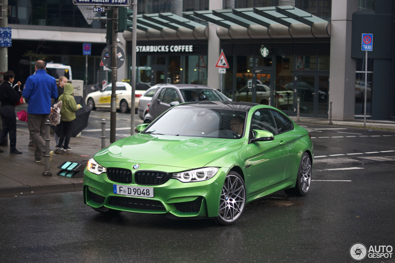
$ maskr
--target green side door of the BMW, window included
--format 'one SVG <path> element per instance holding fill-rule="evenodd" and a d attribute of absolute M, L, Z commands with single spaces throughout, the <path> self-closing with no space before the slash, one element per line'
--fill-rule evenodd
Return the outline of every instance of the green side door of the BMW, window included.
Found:
<path fill-rule="evenodd" d="M 270 131 L 273 141 L 258 141 L 250 143 L 251 158 L 251 193 L 279 184 L 284 180 L 284 171 L 288 160 L 288 148 L 284 146 L 284 136 L 278 134 L 273 115 L 269 109 L 260 109 L 251 119 L 252 130 Z"/>

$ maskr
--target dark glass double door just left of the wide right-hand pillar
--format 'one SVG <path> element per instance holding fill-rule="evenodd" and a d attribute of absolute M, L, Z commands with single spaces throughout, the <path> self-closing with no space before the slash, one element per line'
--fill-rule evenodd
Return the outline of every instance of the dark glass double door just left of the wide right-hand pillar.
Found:
<path fill-rule="evenodd" d="M 295 77 L 300 114 L 327 118 L 329 74 L 318 72 L 299 73 Z M 296 107 L 296 106 L 295 106 Z"/>

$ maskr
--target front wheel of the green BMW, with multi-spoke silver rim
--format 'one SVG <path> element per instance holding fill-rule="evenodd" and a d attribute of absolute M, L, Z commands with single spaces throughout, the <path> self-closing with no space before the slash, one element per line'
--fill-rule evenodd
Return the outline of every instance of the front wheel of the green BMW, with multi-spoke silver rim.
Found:
<path fill-rule="evenodd" d="M 243 178 L 230 171 L 220 195 L 220 208 L 215 220 L 221 225 L 232 225 L 243 214 L 246 205 L 246 188 Z"/>

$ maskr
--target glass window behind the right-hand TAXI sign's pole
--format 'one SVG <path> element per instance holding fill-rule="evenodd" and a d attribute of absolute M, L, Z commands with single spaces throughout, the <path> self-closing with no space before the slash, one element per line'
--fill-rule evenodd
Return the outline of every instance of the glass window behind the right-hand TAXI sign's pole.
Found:
<path fill-rule="evenodd" d="M 373 73 L 367 73 L 365 85 L 365 73 L 355 73 L 355 117 L 363 117 L 365 114 L 365 88 L 366 88 L 366 115 L 371 116 Z"/>

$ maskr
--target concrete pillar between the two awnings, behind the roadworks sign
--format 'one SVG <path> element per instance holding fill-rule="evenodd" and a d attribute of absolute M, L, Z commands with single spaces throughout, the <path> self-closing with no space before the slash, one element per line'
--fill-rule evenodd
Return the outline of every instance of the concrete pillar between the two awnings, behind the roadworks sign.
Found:
<path fill-rule="evenodd" d="M 210 10 L 222 9 L 222 1 L 210 0 Z M 215 68 L 220 57 L 220 39 L 217 36 L 217 25 L 209 23 L 209 53 L 207 54 L 207 86 L 220 90 L 220 73 Z"/>

